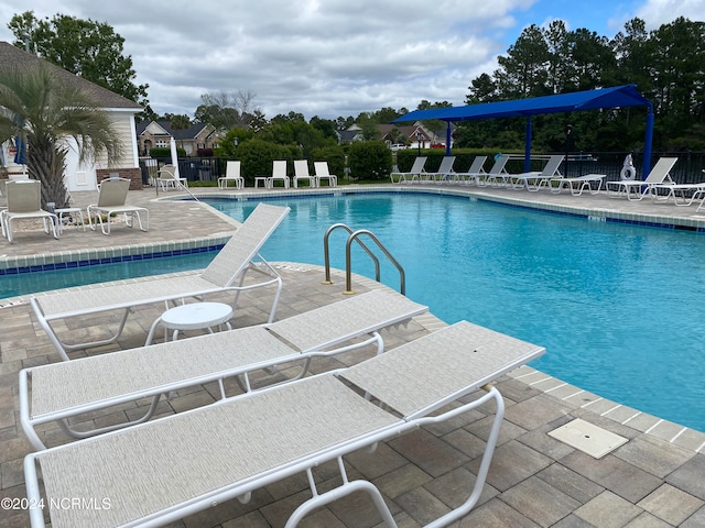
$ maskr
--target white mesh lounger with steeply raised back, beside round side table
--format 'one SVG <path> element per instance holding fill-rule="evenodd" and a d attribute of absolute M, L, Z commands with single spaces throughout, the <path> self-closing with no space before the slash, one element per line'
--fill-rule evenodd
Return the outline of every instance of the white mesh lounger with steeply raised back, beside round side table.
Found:
<path fill-rule="evenodd" d="M 105 182 L 104 186 L 108 182 Z M 236 293 L 234 300 L 234 309 L 236 309 L 239 292 L 273 285 L 276 286 L 276 294 L 269 317 L 269 322 L 271 322 L 279 302 L 282 279 L 259 252 L 272 232 L 289 215 L 289 211 L 288 207 L 267 204 L 257 206 L 200 274 L 35 295 L 30 298 L 30 304 L 40 324 L 64 361 L 69 359 L 68 351 L 115 342 L 122 333 L 130 309 L 141 305 L 183 300 L 186 297 L 232 290 Z M 256 258 L 259 258 L 259 262 L 256 262 Z M 243 285 L 249 270 L 264 273 L 265 279 L 257 284 Z M 52 327 L 52 323 L 57 320 L 83 318 L 112 310 L 122 310 L 123 316 L 115 334 L 106 339 L 68 344 L 62 342 L 58 333 Z"/>

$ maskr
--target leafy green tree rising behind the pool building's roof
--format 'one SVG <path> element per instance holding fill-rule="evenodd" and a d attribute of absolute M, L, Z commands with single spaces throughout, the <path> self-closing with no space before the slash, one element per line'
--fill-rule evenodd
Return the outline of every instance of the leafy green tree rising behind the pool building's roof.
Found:
<path fill-rule="evenodd" d="M 102 86 L 140 103 L 148 111 L 149 85 L 135 85 L 132 57 L 123 55 L 124 38 L 107 23 L 56 14 L 37 20 L 33 11 L 15 14 L 8 28 L 24 48 L 29 35 L 30 51 L 72 74 Z"/>

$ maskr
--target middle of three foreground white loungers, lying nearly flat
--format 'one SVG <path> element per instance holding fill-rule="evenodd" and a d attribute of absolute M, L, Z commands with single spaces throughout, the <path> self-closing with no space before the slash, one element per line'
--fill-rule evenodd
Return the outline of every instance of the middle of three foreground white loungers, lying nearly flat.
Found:
<path fill-rule="evenodd" d="M 372 290 L 278 322 L 25 369 L 20 372 L 20 421 L 37 450 L 45 446 L 35 428 L 50 421 L 58 421 L 73 438 L 133 426 L 149 420 L 160 396 L 172 391 L 217 381 L 225 398 L 228 377 L 240 376 L 242 388 L 251 391 L 252 371 L 303 362 L 297 378 L 317 356 L 369 344 L 379 354 L 384 344 L 379 330 L 426 310 L 400 294 Z M 67 422 L 142 398 L 152 398 L 152 405 L 129 422 L 80 432 Z"/>

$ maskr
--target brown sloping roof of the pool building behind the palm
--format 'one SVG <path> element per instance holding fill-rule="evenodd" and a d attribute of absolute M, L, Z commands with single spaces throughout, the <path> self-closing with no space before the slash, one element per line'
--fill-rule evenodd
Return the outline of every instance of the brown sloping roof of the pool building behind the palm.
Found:
<path fill-rule="evenodd" d="M 70 72 L 59 68 L 58 66 L 32 55 L 8 42 L 0 42 L 0 70 L 7 70 L 18 66 L 33 66 L 33 65 L 48 65 L 50 68 L 56 72 L 56 75 L 66 84 L 78 88 L 90 96 L 90 98 L 101 108 L 106 109 L 126 109 L 133 110 L 134 112 L 142 111 L 142 107 L 137 102 L 119 96 L 113 91 L 108 90 L 95 82 L 86 80 Z"/>

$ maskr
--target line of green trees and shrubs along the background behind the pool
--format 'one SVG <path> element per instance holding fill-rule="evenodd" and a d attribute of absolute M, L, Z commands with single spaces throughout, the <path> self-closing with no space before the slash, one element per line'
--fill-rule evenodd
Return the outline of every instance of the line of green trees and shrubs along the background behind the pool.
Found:
<path fill-rule="evenodd" d="M 150 107 L 149 85 L 134 84 L 132 59 L 123 54 L 124 40 L 107 23 L 62 14 L 37 20 L 26 11 L 15 14 L 8 26 L 17 38 L 14 45 L 140 103 L 144 108 L 141 119 L 165 119 L 176 129 L 192 122 L 209 123 L 227 132 L 226 145 L 234 138 L 257 138 L 310 152 L 329 146 L 337 141 L 336 131 L 352 123 L 365 139 L 379 139 L 378 124 L 408 112 L 405 108 L 382 108 L 357 117 L 315 116 L 306 122 L 303 114 L 291 111 L 267 119 L 256 94 L 239 90 L 203 95 L 193 118 L 158 116 Z M 470 81 L 466 103 L 633 84 L 653 103 L 654 150 L 705 151 L 704 52 L 705 23 L 682 16 L 653 31 L 634 18 L 612 38 L 585 28 L 568 31 L 560 20 L 547 28 L 532 24 L 498 57 L 495 72 Z M 416 108 L 446 106 L 447 101 L 424 100 Z M 539 116 L 533 120 L 533 147 L 546 152 L 638 151 L 643 146 L 644 116 L 640 108 Z M 523 134 L 523 119 L 465 122 L 454 132 L 458 147 L 497 150 L 521 148 Z M 393 143 L 409 140 L 399 130 L 392 130 L 390 139 Z"/>

